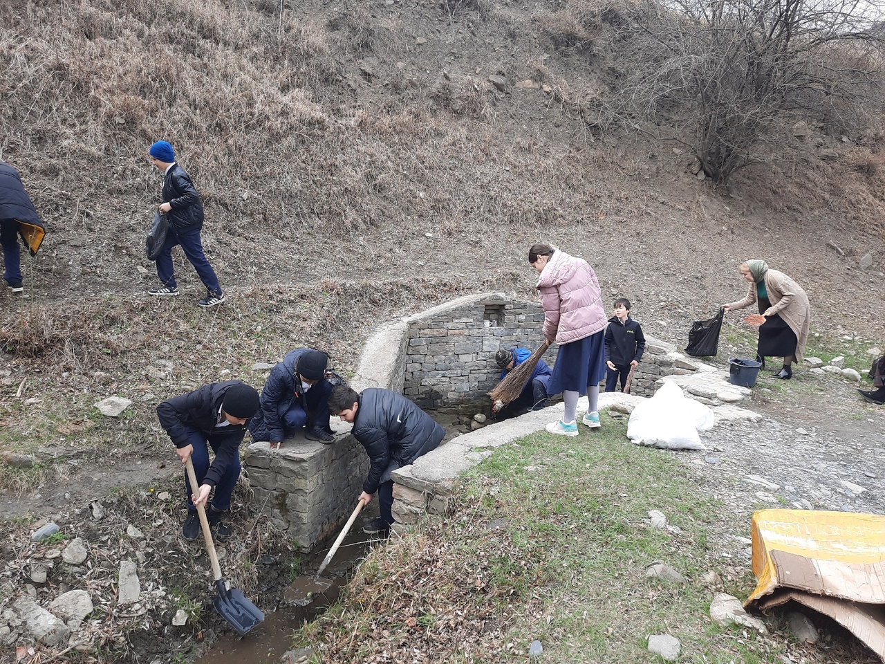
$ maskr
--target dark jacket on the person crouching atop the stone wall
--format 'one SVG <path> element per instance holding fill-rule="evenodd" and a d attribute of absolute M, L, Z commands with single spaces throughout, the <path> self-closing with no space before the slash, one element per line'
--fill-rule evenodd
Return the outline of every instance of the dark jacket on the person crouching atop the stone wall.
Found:
<path fill-rule="evenodd" d="M 301 405 L 304 413 L 307 413 L 307 429 L 312 429 L 313 420 L 312 413 L 304 402 L 304 392 L 301 391 L 301 381 L 298 380 L 298 358 L 310 351 L 310 348 L 296 348 L 294 351 L 286 353 L 286 357 L 281 362 L 277 362 L 276 366 L 271 369 L 271 374 L 267 376 L 264 390 L 261 390 L 261 407 L 258 413 L 249 423 L 249 430 L 255 440 L 266 440 L 271 443 L 283 440 L 285 431 L 280 418 L 281 409 L 283 412 L 289 410 L 289 407 L 295 402 Z M 321 389 L 320 382 L 326 381 L 323 378 L 317 382 L 311 390 Z M 285 408 L 282 408 L 286 406 Z M 327 424 L 324 422 L 323 424 Z M 322 424 L 320 425 L 322 426 Z"/>

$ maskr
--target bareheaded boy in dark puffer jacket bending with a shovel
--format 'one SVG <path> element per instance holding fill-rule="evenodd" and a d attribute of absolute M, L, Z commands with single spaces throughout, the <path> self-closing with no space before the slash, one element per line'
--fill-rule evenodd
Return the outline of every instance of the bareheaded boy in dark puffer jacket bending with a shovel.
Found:
<path fill-rule="evenodd" d="M 363 532 L 387 537 L 394 522 L 390 474 L 434 450 L 445 431 L 430 415 L 392 390 L 368 388 L 358 394 L 347 385 L 338 385 L 328 405 L 329 413 L 353 424 L 351 433 L 366 448 L 371 462 L 358 499 L 368 504 L 377 491 L 381 516 L 366 524 Z"/>

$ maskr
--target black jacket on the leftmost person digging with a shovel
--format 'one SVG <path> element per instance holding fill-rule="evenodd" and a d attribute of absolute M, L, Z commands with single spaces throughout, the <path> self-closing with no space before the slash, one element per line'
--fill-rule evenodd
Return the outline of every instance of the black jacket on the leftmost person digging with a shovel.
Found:
<path fill-rule="evenodd" d="M 215 450 L 215 459 L 206 472 L 203 480 L 210 486 L 219 483 L 221 475 L 227 470 L 227 464 L 239 453 L 243 436 L 246 435 L 245 424 L 228 424 L 227 427 L 215 429 L 218 423 L 219 410 L 224 401 L 227 388 L 239 384 L 240 381 L 211 382 L 181 397 L 167 399 L 157 406 L 160 426 L 172 438 L 175 447 L 186 447 L 190 444 L 187 429 L 197 429 L 205 436 L 219 440 Z"/>

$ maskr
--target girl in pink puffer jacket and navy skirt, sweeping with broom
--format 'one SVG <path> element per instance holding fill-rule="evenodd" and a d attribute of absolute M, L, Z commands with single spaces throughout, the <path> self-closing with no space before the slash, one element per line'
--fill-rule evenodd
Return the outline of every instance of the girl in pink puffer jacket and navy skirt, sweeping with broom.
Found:
<path fill-rule="evenodd" d="M 562 392 L 566 413 L 547 425 L 551 434 L 577 436 L 578 398 L 586 394 L 589 408 L 581 421 L 599 428 L 599 382 L 605 376 L 605 311 L 596 273 L 586 260 L 569 256 L 550 244 L 535 244 L 528 262 L 541 275 L 538 290 L 544 307 L 544 338 L 559 344 L 549 394 Z"/>

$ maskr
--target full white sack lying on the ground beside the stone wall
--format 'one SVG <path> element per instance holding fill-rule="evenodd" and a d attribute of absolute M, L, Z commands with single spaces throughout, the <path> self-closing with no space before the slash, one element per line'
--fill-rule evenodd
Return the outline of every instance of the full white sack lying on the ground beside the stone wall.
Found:
<path fill-rule="evenodd" d="M 705 450 L 697 431 L 712 425 L 710 408 L 685 398 L 676 383 L 667 381 L 654 397 L 637 404 L 630 413 L 627 438 L 637 445 L 665 450 Z"/>

